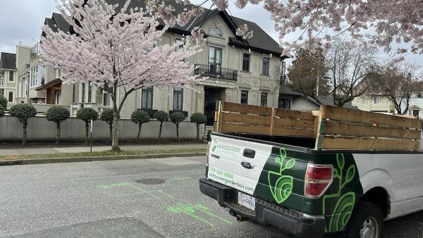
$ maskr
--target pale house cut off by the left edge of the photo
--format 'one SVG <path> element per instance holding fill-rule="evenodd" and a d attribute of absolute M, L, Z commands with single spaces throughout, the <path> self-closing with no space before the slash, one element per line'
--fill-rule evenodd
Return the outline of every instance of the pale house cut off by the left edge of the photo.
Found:
<path fill-rule="evenodd" d="M 16 103 L 17 88 L 16 54 L 0 53 L 0 95 L 8 101 L 8 107 Z"/>

